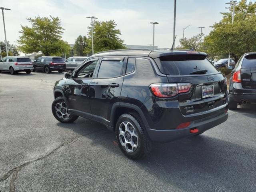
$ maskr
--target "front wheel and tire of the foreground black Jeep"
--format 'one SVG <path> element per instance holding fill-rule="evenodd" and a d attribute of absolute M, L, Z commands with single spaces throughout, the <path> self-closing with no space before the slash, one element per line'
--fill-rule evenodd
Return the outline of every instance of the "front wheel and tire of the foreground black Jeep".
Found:
<path fill-rule="evenodd" d="M 72 123 L 79 117 L 68 113 L 62 96 L 56 98 L 52 102 L 52 114 L 59 122 L 62 123 Z"/>

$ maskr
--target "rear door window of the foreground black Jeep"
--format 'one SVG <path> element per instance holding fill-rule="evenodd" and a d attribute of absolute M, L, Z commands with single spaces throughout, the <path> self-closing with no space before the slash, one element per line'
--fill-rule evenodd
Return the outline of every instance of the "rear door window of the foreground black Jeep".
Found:
<path fill-rule="evenodd" d="M 124 58 L 103 58 L 98 78 L 109 78 L 122 75 Z"/>

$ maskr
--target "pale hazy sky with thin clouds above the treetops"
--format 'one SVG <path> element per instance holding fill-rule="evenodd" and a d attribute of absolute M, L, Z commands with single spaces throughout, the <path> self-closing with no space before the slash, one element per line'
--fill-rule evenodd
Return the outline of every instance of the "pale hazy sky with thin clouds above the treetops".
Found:
<path fill-rule="evenodd" d="M 176 7 L 176 45 L 182 38 L 200 33 L 198 26 L 206 26 L 204 34 L 211 30 L 209 26 L 219 22 L 220 12 L 226 12 L 225 3 L 228 0 L 177 0 Z M 96 16 L 98 20 L 115 20 L 121 30 L 120 38 L 125 44 L 152 44 L 153 26 L 149 22 L 158 22 L 155 28 L 155 45 L 158 48 L 170 47 L 173 36 L 173 0 L 1 0 L 0 6 L 10 8 L 4 12 L 7 40 L 16 44 L 21 30 L 20 24 L 29 25 L 26 18 L 40 16 L 59 16 L 64 29 L 63 39 L 70 44 L 78 35 L 88 33 L 90 19 L 86 16 Z M 0 40 L 4 40 L 2 13 L 0 14 Z"/>

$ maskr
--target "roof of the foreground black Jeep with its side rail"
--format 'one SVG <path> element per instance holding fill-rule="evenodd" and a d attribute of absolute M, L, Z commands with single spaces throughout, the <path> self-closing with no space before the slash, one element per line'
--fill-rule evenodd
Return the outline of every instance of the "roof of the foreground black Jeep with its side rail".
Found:
<path fill-rule="evenodd" d="M 122 49 L 122 50 L 111 50 L 98 52 L 94 54 L 92 57 L 97 56 L 145 56 L 151 58 L 158 58 L 161 56 L 168 56 L 174 54 L 204 54 L 204 52 L 194 52 L 190 50 L 149 50 L 149 49 Z"/>

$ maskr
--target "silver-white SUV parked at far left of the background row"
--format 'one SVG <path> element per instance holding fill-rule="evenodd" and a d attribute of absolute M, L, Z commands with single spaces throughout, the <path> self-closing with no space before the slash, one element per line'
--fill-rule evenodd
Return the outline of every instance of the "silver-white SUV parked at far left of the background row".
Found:
<path fill-rule="evenodd" d="M 2 58 L 0 62 L 0 72 L 10 71 L 13 75 L 17 72 L 25 71 L 29 74 L 31 70 L 33 70 L 33 64 L 29 57 L 8 56 Z"/>

